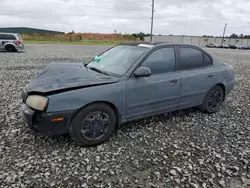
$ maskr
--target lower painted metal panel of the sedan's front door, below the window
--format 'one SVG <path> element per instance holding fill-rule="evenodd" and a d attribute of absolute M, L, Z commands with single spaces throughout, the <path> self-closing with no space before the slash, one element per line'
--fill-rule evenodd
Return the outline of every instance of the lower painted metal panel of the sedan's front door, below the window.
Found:
<path fill-rule="evenodd" d="M 174 84 L 171 84 L 172 80 L 175 80 Z M 176 109 L 179 97 L 180 75 L 177 71 L 131 77 L 127 81 L 127 119 Z"/>

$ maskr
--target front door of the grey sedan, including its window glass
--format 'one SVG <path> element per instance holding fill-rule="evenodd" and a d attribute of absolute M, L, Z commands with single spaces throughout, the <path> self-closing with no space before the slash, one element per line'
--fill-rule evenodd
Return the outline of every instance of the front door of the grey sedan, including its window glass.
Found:
<path fill-rule="evenodd" d="M 178 108 L 180 75 L 174 47 L 153 51 L 140 65 L 151 69 L 149 77 L 127 80 L 127 119 L 164 113 Z"/>

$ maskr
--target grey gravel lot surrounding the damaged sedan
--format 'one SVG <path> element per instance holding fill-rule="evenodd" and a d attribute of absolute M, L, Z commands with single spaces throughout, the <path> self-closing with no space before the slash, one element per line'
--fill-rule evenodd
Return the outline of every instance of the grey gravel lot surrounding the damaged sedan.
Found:
<path fill-rule="evenodd" d="M 107 46 L 27 45 L 0 52 L 0 187 L 250 187 L 250 51 L 207 49 L 236 71 L 217 114 L 188 109 L 125 124 L 105 144 L 36 137 L 21 88 L 52 61 L 83 61 Z"/>

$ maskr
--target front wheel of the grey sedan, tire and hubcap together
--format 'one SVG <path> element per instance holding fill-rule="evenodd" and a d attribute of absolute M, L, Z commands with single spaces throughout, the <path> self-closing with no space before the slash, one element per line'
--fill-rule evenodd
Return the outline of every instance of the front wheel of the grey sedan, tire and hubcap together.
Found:
<path fill-rule="evenodd" d="M 101 114 L 99 116 L 101 118 L 99 120 L 94 120 L 94 118 L 98 117 L 98 115 L 96 115 L 98 113 Z M 88 121 L 92 122 L 92 125 Z M 97 123 L 96 121 L 97 122 L 101 121 L 101 123 L 100 122 Z M 103 123 L 106 121 L 108 123 Z M 116 114 L 109 105 L 105 103 L 92 104 L 81 109 L 79 112 L 75 114 L 69 125 L 69 134 L 73 139 L 73 141 L 78 146 L 81 147 L 97 146 L 106 142 L 113 135 L 114 130 L 116 129 L 116 122 L 117 122 Z M 89 135 L 88 137 L 88 134 L 92 136 L 94 134 L 95 135 L 103 134 L 103 136 L 96 138 L 96 140 L 91 140 L 90 138 L 91 136 Z"/>

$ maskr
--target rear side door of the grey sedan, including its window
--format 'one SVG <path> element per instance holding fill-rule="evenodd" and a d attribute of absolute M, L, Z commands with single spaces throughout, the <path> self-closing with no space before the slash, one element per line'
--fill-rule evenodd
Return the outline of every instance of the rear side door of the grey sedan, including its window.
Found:
<path fill-rule="evenodd" d="M 179 46 L 178 69 L 181 81 L 180 107 L 192 107 L 202 103 L 206 93 L 216 83 L 212 58 L 192 46 Z"/>

